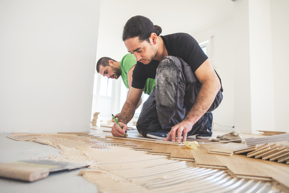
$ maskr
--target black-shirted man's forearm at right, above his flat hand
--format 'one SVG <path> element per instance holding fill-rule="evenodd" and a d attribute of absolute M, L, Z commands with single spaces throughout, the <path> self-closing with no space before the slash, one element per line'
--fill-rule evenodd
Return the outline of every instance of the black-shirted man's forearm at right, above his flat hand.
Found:
<path fill-rule="evenodd" d="M 220 88 L 221 84 L 219 81 L 216 81 L 213 84 L 203 84 L 198 93 L 196 102 L 194 103 L 184 120 L 195 124 L 210 108 Z"/>

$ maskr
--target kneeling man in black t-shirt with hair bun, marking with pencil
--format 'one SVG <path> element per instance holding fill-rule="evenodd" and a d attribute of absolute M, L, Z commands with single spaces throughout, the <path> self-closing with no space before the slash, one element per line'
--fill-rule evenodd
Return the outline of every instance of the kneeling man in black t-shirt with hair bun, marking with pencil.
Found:
<path fill-rule="evenodd" d="M 147 78 L 155 79 L 155 88 L 137 122 L 145 137 L 164 141 L 186 141 L 186 137 L 209 139 L 212 113 L 222 101 L 221 81 L 197 41 L 185 33 L 159 36 L 161 28 L 144 16 L 134 16 L 123 30 L 128 52 L 138 61 L 131 91 L 119 124 L 112 135 L 124 137 L 126 124 L 134 115 Z M 177 140 L 176 140 L 177 136 Z"/>

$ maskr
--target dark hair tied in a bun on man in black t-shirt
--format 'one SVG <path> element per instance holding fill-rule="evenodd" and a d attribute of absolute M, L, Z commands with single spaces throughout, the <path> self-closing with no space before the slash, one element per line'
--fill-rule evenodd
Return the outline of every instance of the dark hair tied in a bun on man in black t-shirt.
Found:
<path fill-rule="evenodd" d="M 162 28 L 158 25 L 153 25 L 149 18 L 137 15 L 129 19 L 125 27 L 123 27 L 123 41 L 138 37 L 141 42 L 144 40 L 149 42 L 151 33 L 159 36 L 162 33 Z"/>

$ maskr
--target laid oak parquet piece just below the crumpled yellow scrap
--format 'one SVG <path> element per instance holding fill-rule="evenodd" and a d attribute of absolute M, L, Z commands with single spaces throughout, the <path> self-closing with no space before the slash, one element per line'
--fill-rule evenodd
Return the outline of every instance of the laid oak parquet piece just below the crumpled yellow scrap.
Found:
<path fill-rule="evenodd" d="M 192 149 L 186 148 L 186 146 L 172 146 L 171 159 L 184 160 L 184 161 L 194 161 L 194 156 L 192 155 Z M 192 151 L 191 151 L 192 150 Z"/>

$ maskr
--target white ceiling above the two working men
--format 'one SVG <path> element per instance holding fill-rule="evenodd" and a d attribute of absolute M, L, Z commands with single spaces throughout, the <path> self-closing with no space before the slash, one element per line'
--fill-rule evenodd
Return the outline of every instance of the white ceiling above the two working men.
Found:
<path fill-rule="evenodd" d="M 162 34 L 194 34 L 233 15 L 231 0 L 102 0 L 99 21 L 97 60 L 103 56 L 121 60 L 128 53 L 123 41 L 123 26 L 135 15 L 148 17 L 162 27 Z"/>

